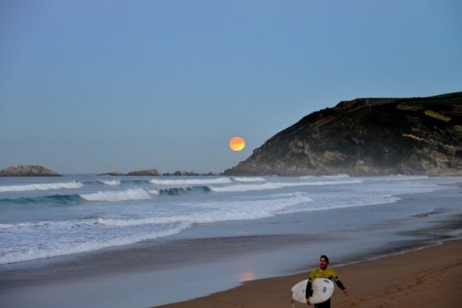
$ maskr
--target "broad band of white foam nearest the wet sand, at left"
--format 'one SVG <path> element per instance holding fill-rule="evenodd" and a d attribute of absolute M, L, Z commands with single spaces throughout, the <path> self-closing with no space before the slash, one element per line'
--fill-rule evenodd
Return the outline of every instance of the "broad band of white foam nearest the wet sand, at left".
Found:
<path fill-rule="evenodd" d="M 281 209 L 309 203 L 306 194 L 289 193 L 261 200 L 201 203 L 202 209 L 183 214 L 156 215 L 132 219 L 92 218 L 72 221 L 37 221 L 2 225 L 4 232 L 35 238 L 28 244 L 0 251 L 0 264 L 78 254 L 106 247 L 129 245 L 182 232 L 194 224 L 227 220 L 251 220 L 274 216 Z M 145 226 L 144 226 L 145 225 Z M 12 230 L 11 229 L 16 229 Z M 108 228 L 108 229 L 101 229 Z M 135 229 L 133 229 L 135 228 Z M 109 231 L 110 230 L 110 231 Z M 2 230 L 3 231 L 3 230 Z M 130 232 L 130 234 L 127 234 Z M 68 234 L 54 240 L 41 234 Z M 88 234 L 82 238 L 81 234 Z"/>

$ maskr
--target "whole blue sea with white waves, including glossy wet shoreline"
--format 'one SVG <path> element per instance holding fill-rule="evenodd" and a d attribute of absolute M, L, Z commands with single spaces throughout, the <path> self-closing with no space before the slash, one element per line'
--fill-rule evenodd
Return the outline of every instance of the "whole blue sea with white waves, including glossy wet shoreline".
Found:
<path fill-rule="evenodd" d="M 321 254 L 338 266 L 438 245 L 462 236 L 461 216 L 462 177 L 0 178 L 0 306 L 153 307 Z"/>

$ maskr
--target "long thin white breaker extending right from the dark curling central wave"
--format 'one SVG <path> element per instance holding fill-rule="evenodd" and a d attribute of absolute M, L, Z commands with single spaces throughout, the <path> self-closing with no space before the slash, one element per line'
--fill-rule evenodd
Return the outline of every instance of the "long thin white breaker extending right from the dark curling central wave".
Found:
<path fill-rule="evenodd" d="M 243 184 L 232 185 L 223 187 L 210 187 L 212 192 L 250 192 L 252 190 L 266 190 L 266 189 L 279 189 L 283 187 L 297 187 L 297 186 L 325 186 L 325 185 L 342 185 L 342 184 L 361 184 L 361 180 L 347 180 L 347 181 L 318 181 L 318 182 L 301 182 L 301 183 L 263 183 L 263 184 Z"/>

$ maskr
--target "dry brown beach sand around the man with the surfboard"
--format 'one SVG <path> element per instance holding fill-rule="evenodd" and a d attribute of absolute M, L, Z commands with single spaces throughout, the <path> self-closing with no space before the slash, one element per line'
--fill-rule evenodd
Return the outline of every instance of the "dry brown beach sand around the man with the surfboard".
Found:
<path fill-rule="evenodd" d="M 462 240 L 351 265 L 336 267 L 333 261 L 332 267 L 350 295 L 345 297 L 337 288 L 332 307 L 462 307 Z M 158 307 L 292 307 L 290 289 L 308 274 L 254 280 L 203 298 Z M 297 302 L 294 306 L 307 307 Z"/>

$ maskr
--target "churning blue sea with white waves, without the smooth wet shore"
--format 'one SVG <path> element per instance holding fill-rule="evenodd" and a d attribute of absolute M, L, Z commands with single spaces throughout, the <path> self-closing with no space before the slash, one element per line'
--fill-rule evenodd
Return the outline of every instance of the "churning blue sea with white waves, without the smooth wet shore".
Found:
<path fill-rule="evenodd" d="M 405 194 L 454 189 L 460 182 L 462 178 L 456 177 L 346 174 L 297 178 L 0 178 L 0 265 L 83 254 L 145 240 L 241 234 L 213 227 L 219 223 L 246 222 L 252 225 L 245 231 L 246 236 L 264 236 L 310 234 L 320 228 L 330 232 L 392 222 L 440 210 L 432 203 L 393 207 Z M 352 214 L 345 216 L 342 209 L 351 209 Z M 259 223 L 267 218 L 283 219 L 310 212 L 325 214 L 328 223 L 321 227 L 307 224 L 303 230 L 285 225 L 269 228 Z"/>

